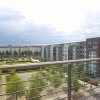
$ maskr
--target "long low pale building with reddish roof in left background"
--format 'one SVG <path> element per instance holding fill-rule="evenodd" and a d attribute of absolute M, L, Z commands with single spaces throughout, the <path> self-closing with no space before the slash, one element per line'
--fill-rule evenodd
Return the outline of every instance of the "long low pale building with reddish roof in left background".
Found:
<path fill-rule="evenodd" d="M 42 46 L 0 46 L 0 56 L 26 56 L 29 54 L 40 53 Z"/>

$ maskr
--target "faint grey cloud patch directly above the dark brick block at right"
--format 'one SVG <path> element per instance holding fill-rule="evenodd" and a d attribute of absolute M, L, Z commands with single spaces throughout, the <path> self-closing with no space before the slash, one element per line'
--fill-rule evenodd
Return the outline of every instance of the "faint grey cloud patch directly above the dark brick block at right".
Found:
<path fill-rule="evenodd" d="M 100 12 L 90 12 L 80 33 L 85 38 L 100 37 Z"/>

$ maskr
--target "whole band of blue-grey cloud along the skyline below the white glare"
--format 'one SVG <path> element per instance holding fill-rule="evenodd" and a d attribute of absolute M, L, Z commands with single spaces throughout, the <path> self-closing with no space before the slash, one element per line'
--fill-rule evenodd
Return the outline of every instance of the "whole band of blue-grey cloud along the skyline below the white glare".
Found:
<path fill-rule="evenodd" d="M 0 45 L 67 43 L 95 36 L 100 36 L 100 13 L 89 14 L 81 30 L 66 33 L 37 25 L 11 8 L 0 8 Z"/>

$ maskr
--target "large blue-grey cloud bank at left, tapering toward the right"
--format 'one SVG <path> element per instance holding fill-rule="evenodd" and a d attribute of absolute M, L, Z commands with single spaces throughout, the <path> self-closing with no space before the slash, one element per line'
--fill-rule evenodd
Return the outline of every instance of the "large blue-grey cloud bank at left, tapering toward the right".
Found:
<path fill-rule="evenodd" d="M 51 26 L 36 25 L 12 9 L 0 8 L 0 45 L 31 45 L 63 40 Z M 56 37 L 57 36 L 57 37 Z"/>

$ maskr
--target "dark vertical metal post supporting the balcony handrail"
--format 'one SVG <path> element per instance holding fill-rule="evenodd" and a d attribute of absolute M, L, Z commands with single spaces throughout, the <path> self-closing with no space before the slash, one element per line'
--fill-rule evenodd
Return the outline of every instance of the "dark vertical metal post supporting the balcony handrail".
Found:
<path fill-rule="evenodd" d="M 68 64 L 68 100 L 71 100 L 71 66 Z"/>

